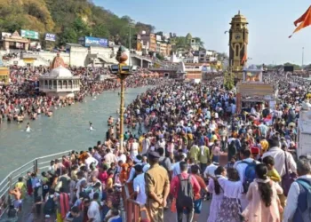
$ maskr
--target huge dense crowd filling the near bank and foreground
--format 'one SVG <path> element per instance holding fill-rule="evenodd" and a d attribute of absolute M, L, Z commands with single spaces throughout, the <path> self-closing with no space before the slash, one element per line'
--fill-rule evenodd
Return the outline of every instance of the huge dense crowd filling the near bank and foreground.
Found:
<path fill-rule="evenodd" d="M 242 113 L 222 78 L 142 93 L 125 109 L 124 144 L 119 120 L 110 117 L 105 141 L 52 161 L 41 179 L 38 172 L 20 178 L 11 191 L 19 194 L 15 207 L 28 195 L 35 219 L 122 221 L 121 189 L 128 187 L 148 211 L 140 221 L 186 215 L 196 222 L 207 210 L 208 222 L 311 221 L 311 161 L 295 155 L 310 83 L 280 74 L 265 81 L 279 91 L 275 108 L 254 103 Z M 165 210 L 176 217 L 165 218 Z"/>

